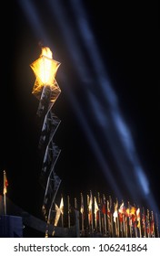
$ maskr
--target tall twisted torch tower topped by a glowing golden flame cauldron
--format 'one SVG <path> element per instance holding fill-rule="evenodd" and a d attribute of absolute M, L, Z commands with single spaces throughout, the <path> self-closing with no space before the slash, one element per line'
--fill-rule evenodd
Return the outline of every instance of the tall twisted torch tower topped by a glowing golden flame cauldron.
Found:
<path fill-rule="evenodd" d="M 42 210 L 48 224 L 52 218 L 55 196 L 61 183 L 60 177 L 55 173 L 55 163 L 60 154 L 60 149 L 53 142 L 60 120 L 52 112 L 52 107 L 61 92 L 55 80 L 60 64 L 60 62 L 53 59 L 50 48 L 42 47 L 39 59 L 36 59 L 30 65 L 35 73 L 35 85 L 32 93 L 39 101 L 37 116 L 43 123 L 39 140 L 39 149 L 43 153 L 40 183 L 45 189 Z"/>

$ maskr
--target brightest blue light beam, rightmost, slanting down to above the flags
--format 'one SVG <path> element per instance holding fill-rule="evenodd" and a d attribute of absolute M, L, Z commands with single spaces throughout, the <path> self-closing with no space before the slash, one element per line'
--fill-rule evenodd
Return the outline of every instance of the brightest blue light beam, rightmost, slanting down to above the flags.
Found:
<path fill-rule="evenodd" d="M 89 57 L 92 60 L 93 68 L 95 69 L 97 80 L 101 85 L 102 91 L 104 91 L 105 93 L 104 95 L 106 97 L 106 101 L 109 102 L 110 104 L 110 115 L 111 115 L 111 121 L 112 121 L 111 123 L 113 124 L 117 139 L 121 142 L 121 144 L 119 143 L 119 148 L 120 150 L 124 151 L 126 160 L 130 162 L 129 163 L 130 167 L 133 165 L 132 176 L 134 177 L 135 181 L 137 180 L 136 184 L 140 185 L 140 187 L 142 188 L 140 189 L 139 193 L 135 193 L 135 191 L 133 191 L 132 194 L 134 197 L 138 197 L 138 196 L 141 196 L 140 192 L 143 192 L 143 197 L 146 197 L 149 194 L 151 194 L 148 186 L 149 182 L 140 164 L 140 161 L 138 160 L 138 156 L 135 153 L 135 145 L 133 143 L 133 138 L 131 136 L 131 133 L 129 132 L 129 129 L 126 126 L 125 121 L 123 119 L 123 116 L 119 111 L 115 91 L 113 91 L 113 89 L 111 88 L 110 80 L 108 79 L 108 76 L 104 69 L 104 65 L 102 63 L 100 55 L 98 54 L 98 50 L 95 45 L 94 36 L 87 23 L 85 11 L 80 1 L 77 0 L 75 3 L 73 0 L 71 0 L 71 3 L 72 3 L 72 7 L 74 8 L 74 13 L 76 17 L 75 21 L 77 21 L 77 25 L 78 25 L 81 37 L 83 37 L 84 39 L 85 48 L 90 53 Z M 93 107 L 95 106 L 95 101 L 93 102 L 92 106 Z M 103 123 L 105 123 L 104 120 L 103 120 Z M 106 137 L 107 139 L 110 139 L 111 138 L 110 133 L 106 133 Z M 110 145 L 113 149 L 112 151 L 115 152 L 113 141 L 110 141 Z M 119 157 L 118 154 L 114 154 L 114 155 L 115 155 L 116 162 L 119 165 L 121 174 L 125 178 L 125 184 L 128 187 L 128 189 L 131 191 L 133 189 L 132 181 L 129 179 L 131 177 L 131 171 L 129 172 L 129 175 L 127 175 L 127 168 L 125 168 L 125 165 L 124 165 L 125 162 L 123 163 L 121 161 L 121 157 Z M 155 202 L 150 202 L 150 203 L 154 204 L 155 206 Z"/>

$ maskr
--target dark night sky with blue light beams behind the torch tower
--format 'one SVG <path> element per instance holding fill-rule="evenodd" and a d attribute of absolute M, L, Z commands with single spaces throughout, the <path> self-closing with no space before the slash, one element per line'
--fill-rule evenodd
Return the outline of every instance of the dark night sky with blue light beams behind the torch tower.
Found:
<path fill-rule="evenodd" d="M 61 62 L 55 77 L 61 94 L 53 107 L 61 120 L 54 136 L 61 149 L 55 165 L 62 179 L 58 193 L 73 200 L 91 189 L 145 204 L 143 185 L 136 187 L 130 176 L 135 167 L 125 158 L 129 153 L 141 163 L 149 193 L 159 208 L 157 9 L 153 3 L 138 1 L 127 5 L 113 1 L 14 1 L 5 37 L 9 50 L 2 48 L 5 82 L 1 83 L 0 166 L 2 179 L 5 169 L 9 183 L 7 197 L 15 204 L 41 216 L 44 190 L 39 184 L 42 159 L 37 150 L 41 127 L 30 64 L 39 58 L 42 43 L 51 48 L 53 59 Z M 106 89 L 107 83 L 115 98 Z M 130 152 L 126 147 L 123 153 L 121 148 L 124 140 L 130 144 L 128 136 L 121 140 L 121 135 L 115 135 L 115 105 L 133 140 Z M 108 169 L 121 195 L 105 174 Z M 127 184 L 122 170 L 127 172 Z"/>

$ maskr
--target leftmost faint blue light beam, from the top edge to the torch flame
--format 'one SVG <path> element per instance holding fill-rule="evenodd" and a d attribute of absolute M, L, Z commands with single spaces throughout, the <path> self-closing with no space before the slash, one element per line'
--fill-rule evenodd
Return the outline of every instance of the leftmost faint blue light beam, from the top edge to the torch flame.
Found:
<path fill-rule="evenodd" d="M 18 0 L 19 5 L 23 9 L 23 12 L 28 20 L 30 27 L 33 29 L 38 41 L 43 41 L 45 45 L 51 45 L 50 39 L 45 33 L 45 27 L 40 16 L 38 16 L 37 9 L 33 5 L 33 1 L 30 0 Z"/>

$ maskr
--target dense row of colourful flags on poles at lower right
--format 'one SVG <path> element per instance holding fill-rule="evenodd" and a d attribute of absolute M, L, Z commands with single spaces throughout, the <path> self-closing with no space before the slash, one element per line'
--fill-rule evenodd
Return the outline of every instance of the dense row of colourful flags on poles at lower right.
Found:
<path fill-rule="evenodd" d="M 127 204 L 124 201 L 119 203 L 117 199 L 113 202 L 112 197 L 106 198 L 104 194 L 100 197 L 100 193 L 97 193 L 95 197 L 92 191 L 86 197 L 81 193 L 79 204 L 75 198 L 73 207 L 69 196 L 67 196 L 65 204 L 64 198 L 61 197 L 59 207 L 55 204 L 53 225 L 70 228 L 73 209 L 79 211 L 80 235 L 82 237 L 92 237 L 97 234 L 102 237 L 114 238 L 159 237 L 159 216 L 152 210 L 136 207 L 129 202 Z M 59 219 L 61 219 L 61 223 L 59 223 Z"/>

